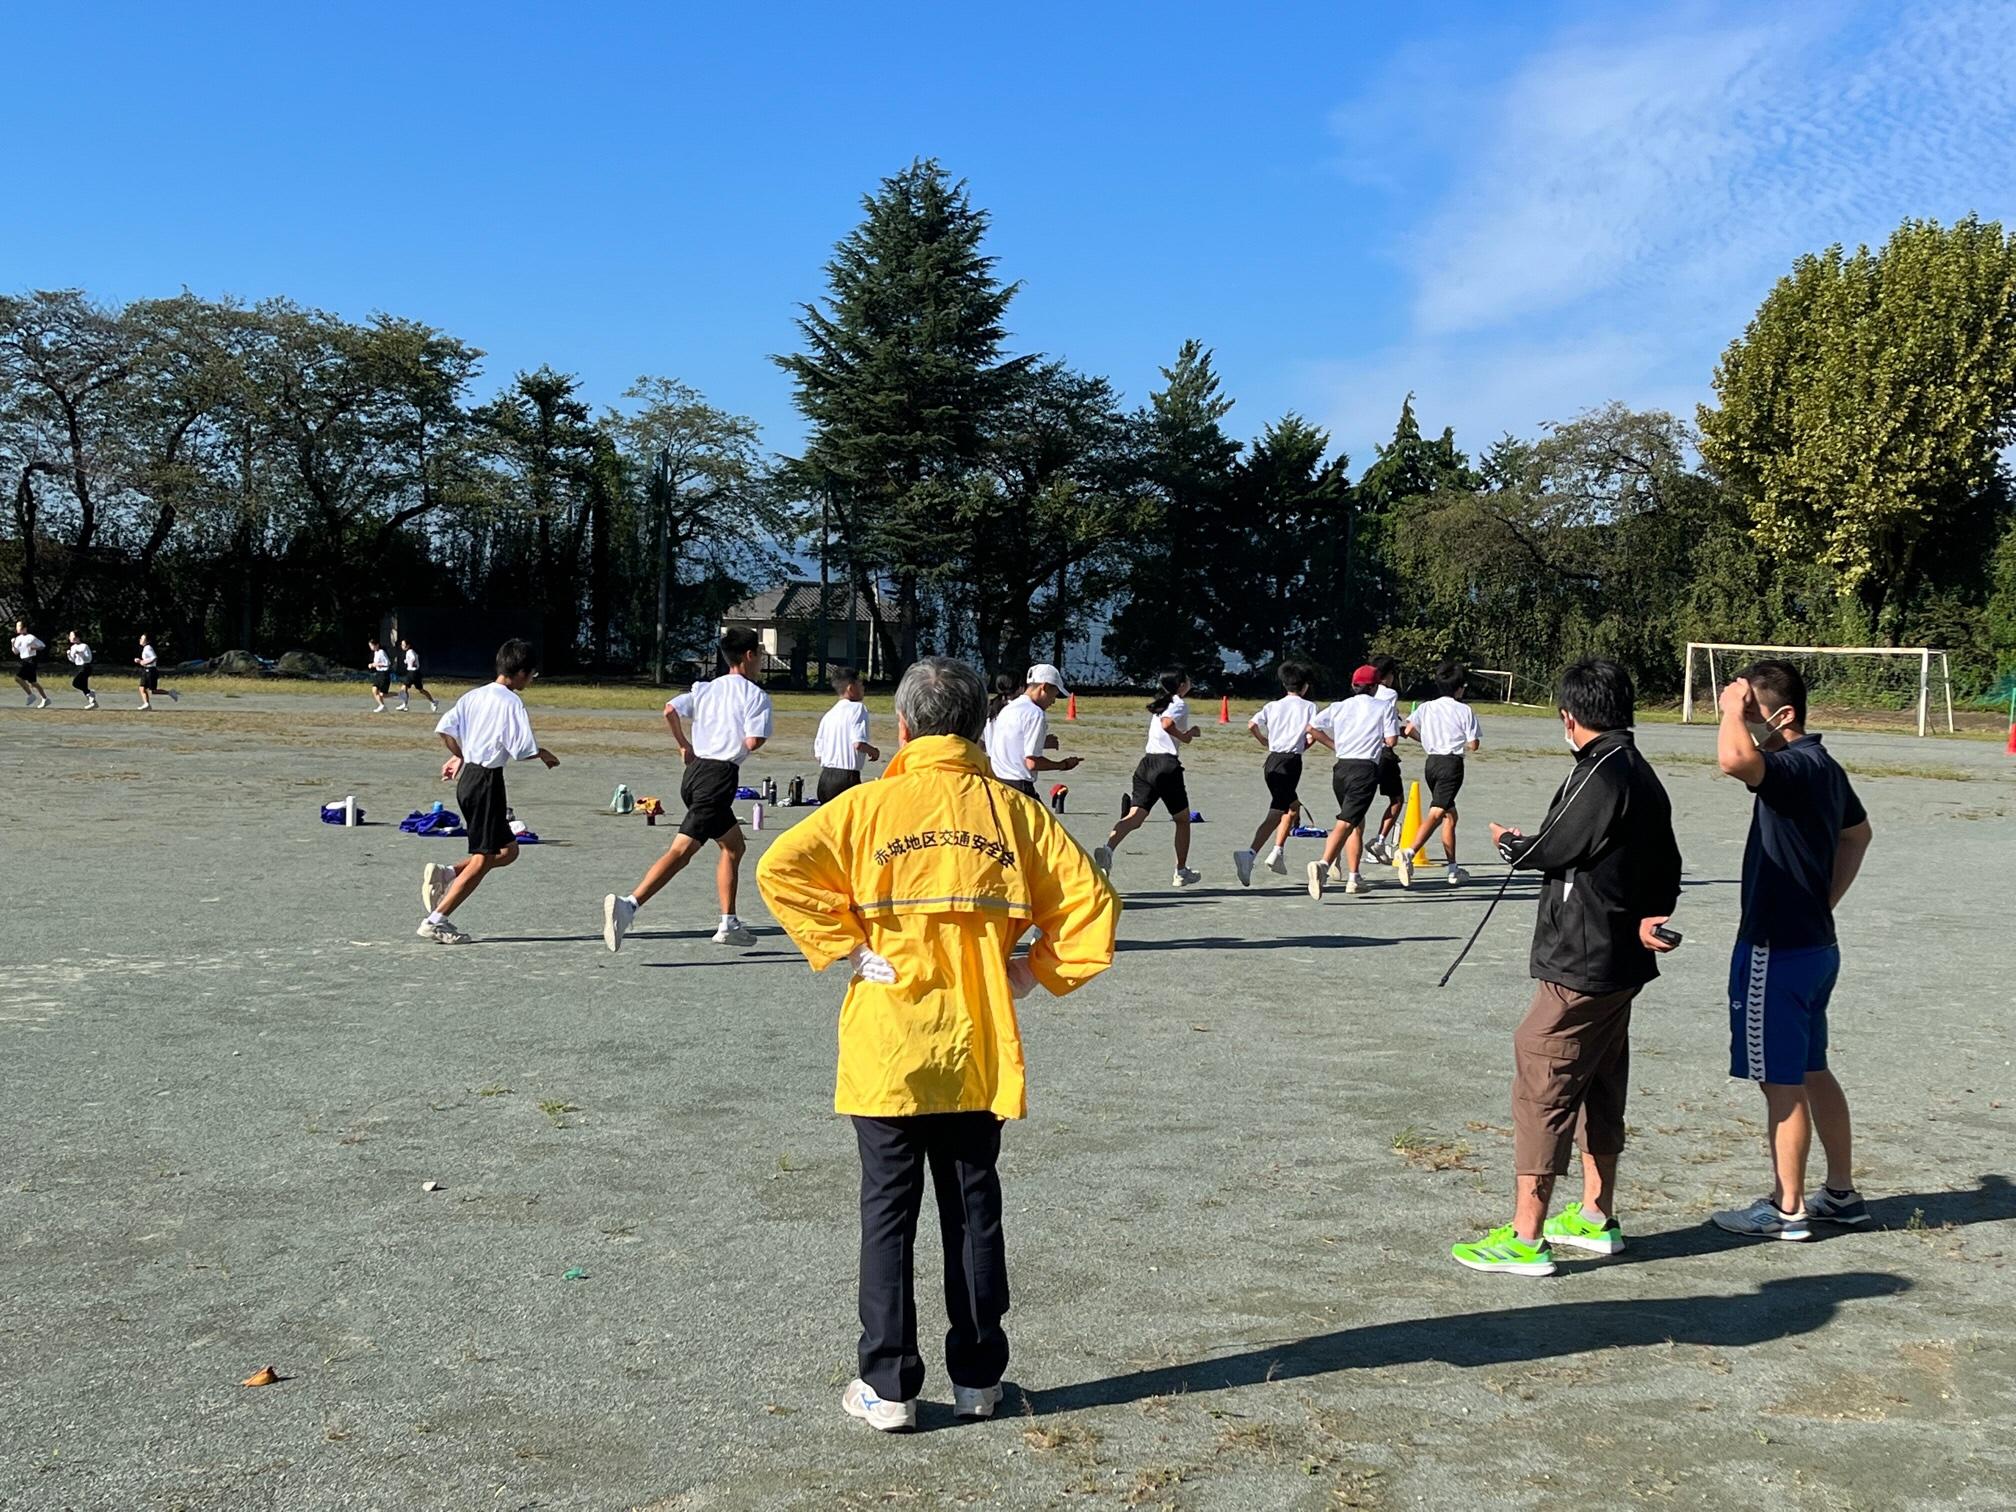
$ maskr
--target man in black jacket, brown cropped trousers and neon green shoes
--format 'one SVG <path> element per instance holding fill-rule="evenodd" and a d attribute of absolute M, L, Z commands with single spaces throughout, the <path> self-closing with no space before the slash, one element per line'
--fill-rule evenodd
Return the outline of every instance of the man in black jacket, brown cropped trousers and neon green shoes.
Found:
<path fill-rule="evenodd" d="M 1655 929 L 1679 901 L 1673 808 L 1631 740 L 1637 696 L 1615 661 L 1560 675 L 1560 724 L 1574 770 L 1534 835 L 1492 825 L 1512 867 L 1546 877 L 1532 929 L 1532 1006 L 1512 1036 L 1512 1222 L 1450 1254 L 1472 1270 L 1554 1274 L 1554 1244 L 1625 1248 L 1617 1155 L 1625 1147 L 1631 1000 L 1673 946 Z M 1548 1218 L 1568 1145 L 1583 1149 L 1583 1202 Z"/>

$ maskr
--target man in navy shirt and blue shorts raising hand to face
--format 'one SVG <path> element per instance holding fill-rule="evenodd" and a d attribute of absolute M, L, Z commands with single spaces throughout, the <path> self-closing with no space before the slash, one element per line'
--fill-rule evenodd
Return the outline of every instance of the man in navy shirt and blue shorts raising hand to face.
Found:
<path fill-rule="evenodd" d="M 1806 732 L 1806 679 L 1790 661 L 1756 661 L 1722 689 L 1716 756 L 1756 794 L 1730 960 L 1730 1075 L 1764 1089 L 1774 1173 L 1768 1198 L 1720 1212 L 1716 1224 L 1804 1240 L 1814 1222 L 1869 1222 L 1855 1191 L 1849 1099 L 1826 1068 L 1826 1002 L 1841 974 L 1835 907 L 1869 849 L 1869 814 Z M 1808 1198 L 1814 1131 L 1826 1183 Z"/>

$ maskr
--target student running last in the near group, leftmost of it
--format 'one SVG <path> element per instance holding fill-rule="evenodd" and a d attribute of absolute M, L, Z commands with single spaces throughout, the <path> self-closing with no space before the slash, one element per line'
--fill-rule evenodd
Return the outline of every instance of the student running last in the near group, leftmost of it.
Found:
<path fill-rule="evenodd" d="M 470 943 L 470 935 L 458 929 L 450 915 L 482 887 L 484 877 L 518 859 L 518 837 L 510 833 L 510 808 L 504 796 L 504 764 L 534 756 L 546 766 L 560 764 L 560 758 L 532 736 L 532 716 L 518 698 L 536 671 L 530 643 L 504 641 L 498 647 L 496 669 L 496 681 L 472 687 L 433 726 L 448 746 L 442 780 L 456 784 L 456 806 L 470 831 L 468 861 L 454 867 L 429 863 L 419 869 L 419 897 L 427 905 L 427 917 L 413 933 L 437 946 Z"/>

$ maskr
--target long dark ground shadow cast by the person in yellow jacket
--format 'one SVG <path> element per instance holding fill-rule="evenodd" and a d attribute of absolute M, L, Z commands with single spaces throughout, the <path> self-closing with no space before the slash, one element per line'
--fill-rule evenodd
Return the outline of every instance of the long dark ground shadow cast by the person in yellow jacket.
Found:
<path fill-rule="evenodd" d="M 1812 1333 L 1831 1322 L 1843 1302 L 1897 1296 L 1911 1290 L 1903 1276 L 1851 1270 L 1829 1276 L 1766 1280 L 1754 1292 L 1645 1296 L 1607 1302 L 1542 1302 L 1492 1312 L 1452 1312 L 1439 1318 L 1375 1322 L 1363 1329 L 1288 1339 L 1238 1355 L 1107 1375 L 1050 1391 L 1024 1387 L 1030 1415 L 1115 1407 L 1179 1391 L 1294 1381 L 1333 1371 L 1377 1371 L 1387 1365 L 1443 1361 L 1464 1369 L 1524 1365 L 1593 1349 L 1647 1349 L 1681 1343 L 1742 1349 Z"/>

